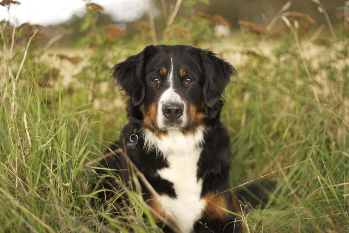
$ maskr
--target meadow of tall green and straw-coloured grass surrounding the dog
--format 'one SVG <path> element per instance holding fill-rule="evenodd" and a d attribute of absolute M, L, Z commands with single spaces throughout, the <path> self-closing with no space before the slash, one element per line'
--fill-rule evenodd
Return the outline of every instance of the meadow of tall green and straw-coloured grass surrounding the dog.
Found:
<path fill-rule="evenodd" d="M 114 205 L 122 193 L 102 203 L 94 188 L 127 122 L 110 68 L 154 42 L 147 22 L 132 39 L 96 27 L 99 10 L 87 4 L 79 55 L 39 46 L 40 26 L 0 22 L 0 232 L 162 232 L 138 187 L 124 208 Z M 210 48 L 238 72 L 221 114 L 231 190 L 276 183 L 267 207 L 246 203 L 245 232 L 349 232 L 349 15 L 310 32 L 309 15 L 279 13 L 227 38 L 215 33 L 230 27 L 222 16 L 178 17 L 157 43 Z"/>

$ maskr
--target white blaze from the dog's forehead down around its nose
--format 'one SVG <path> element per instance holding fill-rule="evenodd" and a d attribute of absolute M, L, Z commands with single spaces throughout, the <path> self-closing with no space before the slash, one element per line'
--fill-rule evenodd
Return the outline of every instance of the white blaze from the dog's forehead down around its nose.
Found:
<path fill-rule="evenodd" d="M 167 82 L 169 84 L 169 88 L 165 90 L 164 93 L 162 93 L 160 99 L 159 99 L 159 104 L 158 104 L 158 109 L 157 109 L 157 124 L 160 129 L 164 129 L 164 120 L 165 117 L 162 114 L 162 107 L 166 103 L 183 103 L 184 102 L 181 100 L 181 97 L 175 92 L 173 86 L 174 86 L 174 78 L 173 78 L 173 59 L 171 57 L 171 66 L 170 66 L 170 72 L 167 78 Z M 164 85 L 164 84 L 163 84 Z M 186 123 L 186 104 L 184 104 L 184 109 L 183 109 L 183 116 L 182 118 L 182 125 L 184 126 Z"/>

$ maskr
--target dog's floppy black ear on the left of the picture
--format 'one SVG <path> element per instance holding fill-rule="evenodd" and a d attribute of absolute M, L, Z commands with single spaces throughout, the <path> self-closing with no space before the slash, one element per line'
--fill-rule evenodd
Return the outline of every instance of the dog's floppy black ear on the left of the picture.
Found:
<path fill-rule="evenodd" d="M 142 52 L 128 57 L 112 68 L 114 79 L 125 90 L 133 105 L 139 105 L 144 99 L 147 60 L 155 53 L 156 46 L 149 45 Z"/>

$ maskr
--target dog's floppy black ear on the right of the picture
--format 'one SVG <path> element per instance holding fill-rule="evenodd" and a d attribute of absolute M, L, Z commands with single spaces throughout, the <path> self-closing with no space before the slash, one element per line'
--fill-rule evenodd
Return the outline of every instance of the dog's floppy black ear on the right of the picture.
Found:
<path fill-rule="evenodd" d="M 219 103 L 230 76 L 236 71 L 232 65 L 211 51 L 203 50 L 201 56 L 204 101 L 207 107 L 214 108 Z"/>

